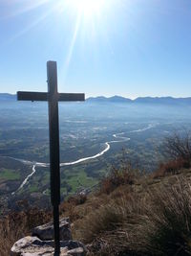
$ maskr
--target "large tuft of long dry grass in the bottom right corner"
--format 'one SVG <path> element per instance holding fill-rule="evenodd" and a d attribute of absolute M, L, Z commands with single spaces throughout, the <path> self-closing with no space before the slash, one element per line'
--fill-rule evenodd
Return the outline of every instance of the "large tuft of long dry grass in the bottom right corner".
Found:
<path fill-rule="evenodd" d="M 145 207 L 142 251 L 153 255 L 191 255 L 191 183 L 180 177 L 173 186 L 150 193 Z"/>

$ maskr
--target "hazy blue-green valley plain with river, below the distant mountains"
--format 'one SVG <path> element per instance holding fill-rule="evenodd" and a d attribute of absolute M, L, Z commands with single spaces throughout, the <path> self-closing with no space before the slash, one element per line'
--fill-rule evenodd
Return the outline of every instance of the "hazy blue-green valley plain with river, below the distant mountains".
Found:
<path fill-rule="evenodd" d="M 191 107 L 119 103 L 60 104 L 61 198 L 89 193 L 121 162 L 150 173 L 164 159 L 163 139 L 189 130 Z M 0 207 L 50 206 L 46 104 L 0 105 Z"/>

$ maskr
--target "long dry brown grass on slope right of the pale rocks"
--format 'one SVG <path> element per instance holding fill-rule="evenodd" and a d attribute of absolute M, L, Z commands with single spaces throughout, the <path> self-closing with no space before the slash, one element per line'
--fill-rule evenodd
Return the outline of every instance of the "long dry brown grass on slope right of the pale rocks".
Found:
<path fill-rule="evenodd" d="M 75 223 L 90 255 L 191 255 L 190 181 L 180 176 L 172 187 L 122 191 Z"/>

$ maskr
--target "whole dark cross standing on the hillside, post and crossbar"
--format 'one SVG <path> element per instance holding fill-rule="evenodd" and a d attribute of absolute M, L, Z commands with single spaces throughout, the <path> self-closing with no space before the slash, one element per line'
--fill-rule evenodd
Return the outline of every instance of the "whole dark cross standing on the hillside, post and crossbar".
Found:
<path fill-rule="evenodd" d="M 58 102 L 85 101 L 83 93 L 57 92 L 57 67 L 55 61 L 47 62 L 48 93 L 17 92 L 18 101 L 48 101 L 50 134 L 51 201 L 53 205 L 54 255 L 60 254 L 59 204 L 60 204 L 60 162 Z"/>

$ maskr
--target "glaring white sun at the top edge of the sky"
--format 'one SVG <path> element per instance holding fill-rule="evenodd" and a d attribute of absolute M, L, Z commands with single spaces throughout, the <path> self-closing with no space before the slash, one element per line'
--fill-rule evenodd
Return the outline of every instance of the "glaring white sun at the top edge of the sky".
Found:
<path fill-rule="evenodd" d="M 65 5 L 78 13 L 84 18 L 99 14 L 104 7 L 105 0 L 67 0 Z"/>

